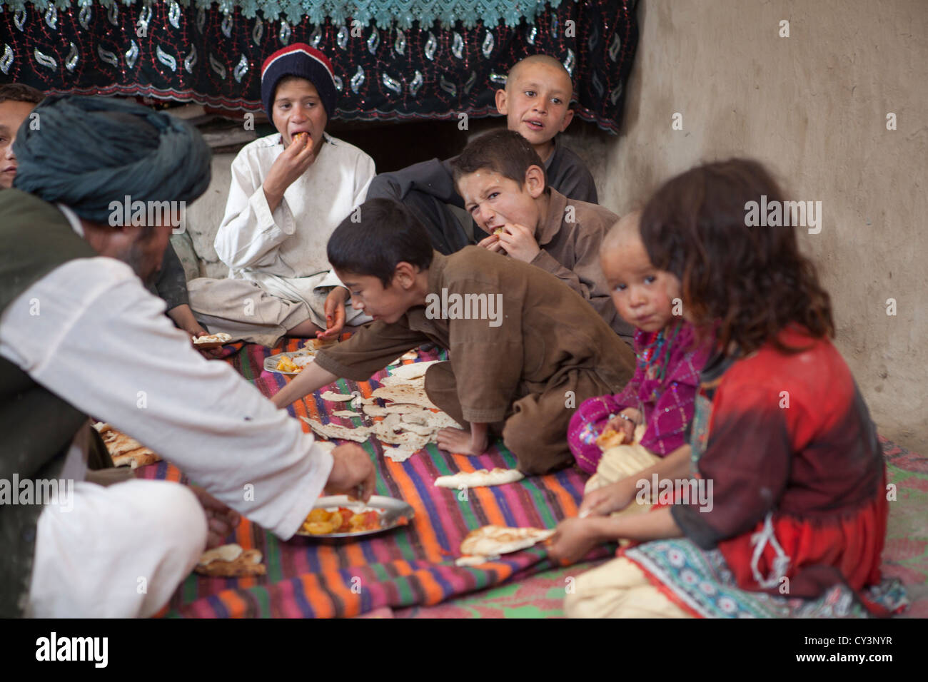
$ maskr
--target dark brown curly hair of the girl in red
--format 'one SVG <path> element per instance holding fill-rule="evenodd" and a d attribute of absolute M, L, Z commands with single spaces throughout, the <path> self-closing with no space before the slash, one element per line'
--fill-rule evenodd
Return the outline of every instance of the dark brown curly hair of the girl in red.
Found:
<path fill-rule="evenodd" d="M 780 187 L 757 161 L 707 163 L 667 181 L 641 215 L 641 239 L 655 267 L 681 282 L 683 305 L 697 327 L 717 322 L 722 349 L 742 354 L 788 325 L 815 339 L 834 336 L 831 301 L 815 266 L 799 252 L 793 227 L 748 226 L 747 203 L 782 201 Z M 782 205 L 782 204 L 781 204 Z"/>

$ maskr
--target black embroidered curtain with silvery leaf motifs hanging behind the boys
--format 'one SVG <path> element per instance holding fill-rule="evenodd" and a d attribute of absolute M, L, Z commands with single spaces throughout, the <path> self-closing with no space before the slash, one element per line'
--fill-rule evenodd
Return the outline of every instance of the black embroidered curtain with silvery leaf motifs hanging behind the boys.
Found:
<path fill-rule="evenodd" d="M 253 4 L 253 3 L 252 3 Z M 552 3 L 554 4 L 554 3 Z M 518 59 L 552 55 L 574 78 L 576 115 L 616 132 L 638 44 L 637 0 L 542 6 L 531 17 L 470 27 L 348 17 L 265 19 L 239 6 L 110 0 L 84 6 L 6 3 L 0 81 L 46 93 L 146 96 L 258 111 L 264 58 L 292 42 L 316 45 L 341 86 L 339 118 L 455 119 L 496 112 L 494 91 Z M 251 14 L 251 18 L 245 16 Z M 445 18 L 446 19 L 446 18 Z"/>

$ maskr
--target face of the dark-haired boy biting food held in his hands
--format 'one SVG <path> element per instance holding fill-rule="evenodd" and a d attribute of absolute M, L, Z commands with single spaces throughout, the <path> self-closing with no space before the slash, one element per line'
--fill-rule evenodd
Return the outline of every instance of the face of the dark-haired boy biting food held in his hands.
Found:
<path fill-rule="evenodd" d="M 541 211 L 535 199 L 545 191 L 544 176 L 529 171 L 522 185 L 488 168 L 460 177 L 458 191 L 464 208 L 477 225 L 490 233 L 507 223 L 532 230 L 538 227 Z"/>

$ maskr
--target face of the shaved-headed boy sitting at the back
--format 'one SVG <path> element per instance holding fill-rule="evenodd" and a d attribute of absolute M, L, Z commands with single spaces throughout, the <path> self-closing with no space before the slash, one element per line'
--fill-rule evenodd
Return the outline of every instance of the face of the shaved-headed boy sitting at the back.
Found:
<path fill-rule="evenodd" d="M 574 118 L 574 87 L 563 71 L 548 64 L 525 64 L 514 75 L 514 83 L 497 93 L 496 109 L 506 115 L 509 130 L 543 145 Z"/>

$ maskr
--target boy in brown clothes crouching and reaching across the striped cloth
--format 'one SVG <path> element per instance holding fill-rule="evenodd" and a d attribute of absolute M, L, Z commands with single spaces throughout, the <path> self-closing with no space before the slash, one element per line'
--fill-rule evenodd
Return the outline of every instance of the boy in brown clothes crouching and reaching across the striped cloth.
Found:
<path fill-rule="evenodd" d="M 329 262 L 374 318 L 274 396 L 290 405 L 344 377 L 367 380 L 398 355 L 432 341 L 448 362 L 429 368 L 432 403 L 468 430 L 445 429 L 440 447 L 479 455 L 488 427 L 525 473 L 571 461 L 567 424 L 587 397 L 630 379 L 631 349 L 574 290 L 541 268 L 478 247 L 444 256 L 402 204 L 370 199 L 360 223 L 346 219 L 329 239 Z"/>

